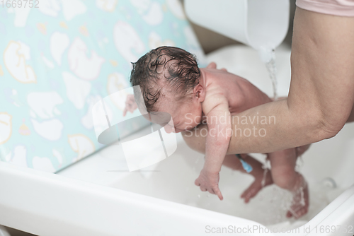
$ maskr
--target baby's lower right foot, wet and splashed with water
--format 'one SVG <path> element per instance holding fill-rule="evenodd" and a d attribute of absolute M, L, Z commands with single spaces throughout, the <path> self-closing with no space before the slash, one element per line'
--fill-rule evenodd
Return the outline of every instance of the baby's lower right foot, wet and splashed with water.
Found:
<path fill-rule="evenodd" d="M 287 217 L 294 216 L 296 219 L 304 216 L 309 210 L 309 189 L 302 175 L 297 175 L 297 182 L 292 191 L 292 206 L 287 212 Z"/>

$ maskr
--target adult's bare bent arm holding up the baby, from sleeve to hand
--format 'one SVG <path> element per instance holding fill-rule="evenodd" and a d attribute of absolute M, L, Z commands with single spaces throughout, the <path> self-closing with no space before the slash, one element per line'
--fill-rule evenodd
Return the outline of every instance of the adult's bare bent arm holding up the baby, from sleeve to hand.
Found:
<path fill-rule="evenodd" d="M 354 101 L 354 18 L 297 8 L 292 38 L 290 91 L 286 100 L 253 107 L 236 115 L 275 117 L 275 124 L 233 124 L 228 153 L 270 153 L 335 136 L 350 116 Z M 188 146 L 205 151 L 198 132 L 183 134 Z M 236 129 L 265 129 L 265 136 L 244 136 Z"/>

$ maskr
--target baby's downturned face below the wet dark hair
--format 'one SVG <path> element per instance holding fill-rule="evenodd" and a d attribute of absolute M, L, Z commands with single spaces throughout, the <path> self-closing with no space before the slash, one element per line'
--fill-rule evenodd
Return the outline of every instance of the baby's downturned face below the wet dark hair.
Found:
<path fill-rule="evenodd" d="M 165 126 L 167 133 L 193 129 L 202 120 L 202 105 L 193 100 L 180 102 L 164 100 L 159 104 L 159 112 L 171 114 L 173 124 L 169 123 Z"/>

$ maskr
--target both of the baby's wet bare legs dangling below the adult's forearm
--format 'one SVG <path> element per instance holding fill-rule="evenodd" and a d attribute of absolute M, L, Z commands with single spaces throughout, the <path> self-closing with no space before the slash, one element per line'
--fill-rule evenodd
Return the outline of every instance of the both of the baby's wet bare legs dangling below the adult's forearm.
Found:
<path fill-rule="evenodd" d="M 271 165 L 270 172 L 264 172 L 262 163 L 250 155 L 241 154 L 241 157 L 252 166 L 253 170 L 249 174 L 254 177 L 253 183 L 244 191 L 241 198 L 244 198 L 244 201 L 248 203 L 263 187 L 274 183 L 282 189 L 291 191 L 293 194 L 292 206 L 290 211 L 287 212 L 287 217 L 294 216 L 299 218 L 306 214 L 309 207 L 307 183 L 304 177 L 295 171 L 295 165 L 297 156 L 302 155 L 307 148 L 309 148 L 309 145 L 268 153 Z M 235 155 L 226 155 L 223 165 L 233 170 L 246 172 Z M 263 176 L 264 173 L 265 177 Z"/>

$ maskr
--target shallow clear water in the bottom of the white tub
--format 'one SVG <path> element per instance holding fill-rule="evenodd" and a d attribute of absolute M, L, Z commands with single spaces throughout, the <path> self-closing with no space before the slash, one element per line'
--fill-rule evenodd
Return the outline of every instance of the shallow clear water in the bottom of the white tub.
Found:
<path fill-rule="evenodd" d="M 259 157 L 261 158 L 262 155 L 259 154 Z M 196 167 L 195 170 L 193 170 L 193 177 L 198 177 L 203 164 L 202 159 L 203 157 L 201 156 L 190 162 L 192 166 Z M 301 162 L 301 160 L 298 160 L 298 163 L 299 162 Z M 300 169 L 301 165 L 298 168 Z M 265 160 L 263 170 L 266 173 L 270 171 L 269 169 L 270 162 L 269 160 Z M 275 224 L 280 224 L 279 226 L 276 225 L 276 228 L 279 228 L 279 230 L 281 230 L 282 227 L 296 228 L 303 225 L 316 216 L 321 209 L 333 201 L 333 199 L 343 191 L 336 188 L 336 182 L 330 178 L 312 184 L 312 187 L 309 188 L 309 195 L 311 196 L 309 213 L 307 213 L 306 216 L 303 216 L 299 221 L 294 218 L 286 217 L 287 211 L 291 211 L 291 206 L 294 203 L 294 194 L 285 189 L 280 189 L 280 187 L 275 184 L 265 186 L 249 203 L 245 204 L 244 199 L 241 199 L 240 196 L 253 182 L 253 178 L 249 175 L 245 175 L 244 173 L 229 168 L 224 168 L 220 173 L 219 182 L 220 189 L 224 196 L 222 202 L 220 202 L 216 195 L 210 194 L 207 191 L 200 191 L 199 187 L 195 187 L 193 180 L 194 178 L 192 181 L 188 179 L 189 185 L 188 187 L 185 187 L 185 204 L 198 208 L 205 208 L 210 211 L 226 213 L 232 216 L 247 218 L 272 227 Z M 298 205 L 303 206 L 304 189 L 300 187 L 295 195 L 297 195 Z"/>

